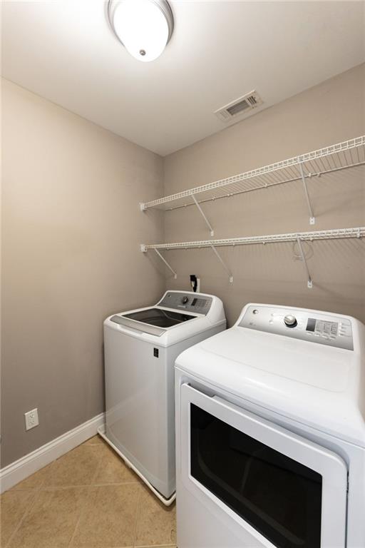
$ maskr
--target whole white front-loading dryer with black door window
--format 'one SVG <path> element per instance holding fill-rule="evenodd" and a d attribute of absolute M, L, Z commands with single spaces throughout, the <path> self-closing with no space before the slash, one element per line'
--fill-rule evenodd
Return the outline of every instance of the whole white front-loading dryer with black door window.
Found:
<path fill-rule="evenodd" d="M 175 365 L 179 548 L 365 547 L 365 328 L 245 306 Z"/>

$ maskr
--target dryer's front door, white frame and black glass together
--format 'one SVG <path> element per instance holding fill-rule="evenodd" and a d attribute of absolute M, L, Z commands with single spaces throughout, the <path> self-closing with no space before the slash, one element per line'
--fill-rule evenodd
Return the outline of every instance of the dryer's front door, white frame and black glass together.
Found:
<path fill-rule="evenodd" d="M 338 455 L 187 384 L 180 405 L 183 484 L 240 524 L 245 542 L 248 534 L 252 546 L 344 548 Z"/>

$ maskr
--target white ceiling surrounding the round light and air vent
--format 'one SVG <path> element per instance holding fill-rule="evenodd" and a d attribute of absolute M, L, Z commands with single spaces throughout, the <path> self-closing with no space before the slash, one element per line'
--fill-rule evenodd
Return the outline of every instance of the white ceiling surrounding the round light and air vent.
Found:
<path fill-rule="evenodd" d="M 267 108 L 365 61 L 362 1 L 171 1 L 173 38 L 140 63 L 103 0 L 3 2 L 2 73 L 162 156 L 222 130 L 256 89 Z"/>

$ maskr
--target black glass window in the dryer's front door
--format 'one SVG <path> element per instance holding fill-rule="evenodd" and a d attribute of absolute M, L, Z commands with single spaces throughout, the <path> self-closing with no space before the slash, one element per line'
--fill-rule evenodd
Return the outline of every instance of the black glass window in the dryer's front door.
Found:
<path fill-rule="evenodd" d="M 320 548 L 322 476 L 210 415 L 191 412 L 191 475 L 277 548 Z"/>

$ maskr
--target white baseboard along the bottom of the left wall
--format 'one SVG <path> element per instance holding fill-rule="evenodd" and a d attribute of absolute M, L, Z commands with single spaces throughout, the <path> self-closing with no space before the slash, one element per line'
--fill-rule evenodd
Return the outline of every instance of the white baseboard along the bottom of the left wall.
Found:
<path fill-rule="evenodd" d="M 69 430 L 66 434 L 56 437 L 56 440 L 42 445 L 42 447 L 25 455 L 25 457 L 21 457 L 21 459 L 11 462 L 11 465 L 2 468 L 0 470 L 0 492 L 7 491 L 7 489 L 43 468 L 43 466 L 49 465 L 53 460 L 86 442 L 89 437 L 95 436 L 98 427 L 103 425 L 104 421 L 104 413 L 101 413 L 82 425 L 73 428 L 73 430 Z"/>

